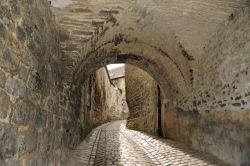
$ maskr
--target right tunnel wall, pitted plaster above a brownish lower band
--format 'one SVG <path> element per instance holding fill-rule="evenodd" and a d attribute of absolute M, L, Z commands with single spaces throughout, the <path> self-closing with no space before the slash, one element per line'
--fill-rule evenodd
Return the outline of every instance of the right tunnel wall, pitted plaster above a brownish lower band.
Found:
<path fill-rule="evenodd" d="M 250 164 L 249 26 L 249 8 L 228 18 L 205 46 L 194 92 L 175 93 L 164 113 L 166 137 L 236 166 Z"/>

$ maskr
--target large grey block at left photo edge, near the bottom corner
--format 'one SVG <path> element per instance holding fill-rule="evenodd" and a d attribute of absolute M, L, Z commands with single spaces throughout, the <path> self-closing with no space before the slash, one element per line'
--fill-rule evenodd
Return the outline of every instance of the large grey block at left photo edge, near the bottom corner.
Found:
<path fill-rule="evenodd" d="M 5 160 L 17 153 L 17 128 L 10 124 L 0 124 L 0 159 Z"/>

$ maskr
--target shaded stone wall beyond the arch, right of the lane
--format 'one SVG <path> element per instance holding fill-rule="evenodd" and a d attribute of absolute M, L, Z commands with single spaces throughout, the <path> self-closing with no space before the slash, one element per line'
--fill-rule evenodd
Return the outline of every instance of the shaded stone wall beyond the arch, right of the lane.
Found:
<path fill-rule="evenodd" d="M 157 84 L 145 71 L 126 65 L 127 127 L 151 134 L 157 129 Z"/>

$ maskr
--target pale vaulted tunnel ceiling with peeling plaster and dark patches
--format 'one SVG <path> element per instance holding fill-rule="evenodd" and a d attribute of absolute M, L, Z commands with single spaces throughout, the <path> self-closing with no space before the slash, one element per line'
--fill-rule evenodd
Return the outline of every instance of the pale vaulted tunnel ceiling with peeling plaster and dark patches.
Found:
<path fill-rule="evenodd" d="M 98 59 L 115 51 L 114 57 L 141 54 L 159 64 L 171 87 L 189 92 L 208 41 L 249 5 L 249 0 L 52 0 L 65 83 L 81 77 L 84 64 L 95 69 Z"/>

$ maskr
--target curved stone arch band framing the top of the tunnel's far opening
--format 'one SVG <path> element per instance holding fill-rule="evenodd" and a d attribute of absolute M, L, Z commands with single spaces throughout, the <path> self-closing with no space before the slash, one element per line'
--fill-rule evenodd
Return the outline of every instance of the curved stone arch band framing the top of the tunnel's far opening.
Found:
<path fill-rule="evenodd" d="M 157 48 L 145 44 L 122 42 L 110 43 L 87 54 L 84 61 L 77 67 L 73 82 L 81 84 L 98 68 L 110 63 L 129 63 L 147 71 L 169 93 L 171 86 L 176 91 L 185 94 L 192 90 L 191 84 L 179 65 L 171 57 Z M 183 67 L 183 66 L 182 66 Z M 187 69 L 188 70 L 188 69 Z"/>

